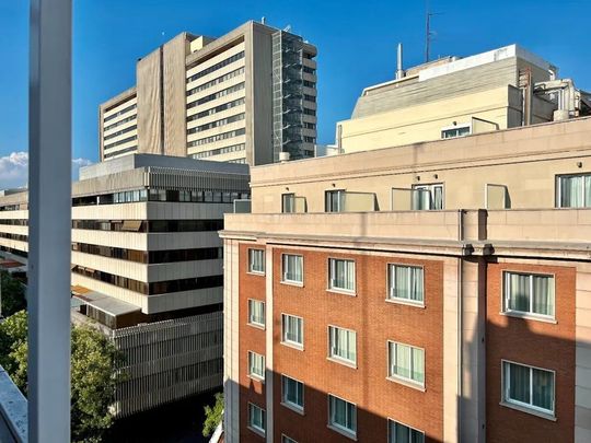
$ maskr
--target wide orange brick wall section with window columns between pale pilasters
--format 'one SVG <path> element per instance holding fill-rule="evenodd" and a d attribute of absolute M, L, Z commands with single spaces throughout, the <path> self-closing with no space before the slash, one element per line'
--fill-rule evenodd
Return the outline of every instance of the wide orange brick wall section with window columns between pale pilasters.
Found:
<path fill-rule="evenodd" d="M 303 255 L 303 288 L 280 282 L 282 252 Z M 326 291 L 328 257 L 356 260 L 356 296 Z M 385 301 L 387 263 L 425 267 L 425 308 Z M 427 441 L 442 441 L 442 272 L 436 260 L 275 249 L 274 441 L 281 433 L 298 442 L 346 441 L 327 428 L 327 393 L 357 405 L 359 441 L 385 442 L 389 417 L 425 431 Z M 304 318 L 303 351 L 280 343 L 282 313 Z M 357 369 L 327 360 L 328 325 L 357 331 Z M 425 349 L 425 392 L 386 380 L 389 339 Z M 280 405 L 280 374 L 304 383 L 303 416 Z"/>

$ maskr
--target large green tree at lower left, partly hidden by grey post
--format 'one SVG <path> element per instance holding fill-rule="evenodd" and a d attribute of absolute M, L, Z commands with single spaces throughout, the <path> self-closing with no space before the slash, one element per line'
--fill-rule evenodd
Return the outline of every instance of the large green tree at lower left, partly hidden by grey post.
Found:
<path fill-rule="evenodd" d="M 0 364 L 26 395 L 26 313 L 0 324 Z M 113 423 L 109 410 L 118 382 L 119 351 L 101 331 L 72 327 L 71 432 L 74 442 L 100 442 Z"/>

